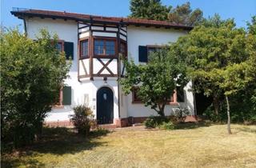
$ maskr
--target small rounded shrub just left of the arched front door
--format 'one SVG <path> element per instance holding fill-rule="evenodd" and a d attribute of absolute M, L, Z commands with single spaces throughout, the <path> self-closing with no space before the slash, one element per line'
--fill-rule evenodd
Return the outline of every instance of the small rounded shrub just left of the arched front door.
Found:
<path fill-rule="evenodd" d="M 78 134 L 90 133 L 90 126 L 95 124 L 93 111 L 89 107 L 80 105 L 73 108 L 74 114 L 70 115 L 70 121 L 73 122 Z"/>

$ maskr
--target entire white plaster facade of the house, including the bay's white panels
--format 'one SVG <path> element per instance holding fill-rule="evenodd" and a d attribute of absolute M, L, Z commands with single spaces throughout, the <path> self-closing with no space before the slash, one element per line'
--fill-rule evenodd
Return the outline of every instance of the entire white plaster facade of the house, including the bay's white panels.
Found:
<path fill-rule="evenodd" d="M 51 18 L 26 18 L 26 32 L 29 38 L 36 38 L 39 31 L 45 28 L 49 30 L 51 34 L 58 34 L 58 38 L 67 42 L 74 42 L 74 59 L 72 67 L 69 72 L 70 78 L 67 78 L 65 84 L 71 86 L 71 105 L 64 106 L 63 108 L 53 108 L 48 114 L 46 122 L 62 122 L 68 121 L 69 115 L 73 114 L 72 108 L 81 104 L 87 104 L 94 111 L 95 116 L 97 113 L 97 91 L 102 86 L 109 87 L 114 94 L 114 118 L 128 118 L 128 117 L 148 117 L 156 114 L 150 107 L 145 107 L 143 104 L 132 103 L 132 95 L 125 96 L 120 90 L 119 101 L 118 101 L 118 82 L 116 77 L 107 78 L 106 81 L 102 77 L 94 77 L 94 80 L 90 78 L 81 78 L 78 80 L 79 75 L 86 75 L 86 72 L 82 68 L 82 62 L 86 67 L 86 71 L 89 72 L 90 61 L 89 59 L 78 60 L 78 38 L 86 38 L 90 36 L 88 28 L 83 28 L 79 32 L 85 32 L 78 35 L 78 22 L 63 19 L 51 19 Z M 102 30 L 100 26 L 94 27 L 95 30 Z M 106 30 L 115 30 L 116 28 L 107 27 Z M 125 28 L 124 28 L 125 29 Z M 122 30 L 121 30 L 122 31 Z M 154 28 L 146 26 L 127 26 L 126 32 L 122 34 L 127 35 L 120 36 L 120 38 L 127 40 L 127 54 L 128 58 L 132 57 L 134 62 L 138 62 L 138 46 L 148 45 L 165 45 L 169 42 L 175 42 L 178 37 L 186 34 L 186 30 L 174 30 L 165 28 Z M 104 32 L 94 32 L 93 35 L 104 36 L 104 37 L 116 37 L 114 34 Z M 93 72 L 96 74 L 102 69 L 102 63 L 93 58 L 94 69 Z M 102 62 L 106 64 L 108 59 L 102 59 Z M 118 60 L 114 59 L 108 67 L 114 74 L 118 74 L 117 68 Z M 110 74 L 106 69 L 102 71 L 102 74 Z M 187 107 L 190 110 L 190 114 L 194 115 L 194 96 L 190 92 L 192 83 L 189 82 L 184 90 L 185 102 L 179 103 L 180 106 Z M 120 112 L 118 112 L 118 102 L 120 106 Z M 170 115 L 175 106 L 166 106 L 166 115 Z M 120 113 L 120 116 L 119 114 Z"/>

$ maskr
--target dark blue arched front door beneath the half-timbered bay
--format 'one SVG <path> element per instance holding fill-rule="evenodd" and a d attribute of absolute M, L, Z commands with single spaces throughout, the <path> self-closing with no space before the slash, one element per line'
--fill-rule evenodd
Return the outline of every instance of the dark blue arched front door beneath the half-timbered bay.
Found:
<path fill-rule="evenodd" d="M 109 87 L 102 87 L 97 92 L 97 121 L 98 124 L 113 123 L 114 98 Z"/>

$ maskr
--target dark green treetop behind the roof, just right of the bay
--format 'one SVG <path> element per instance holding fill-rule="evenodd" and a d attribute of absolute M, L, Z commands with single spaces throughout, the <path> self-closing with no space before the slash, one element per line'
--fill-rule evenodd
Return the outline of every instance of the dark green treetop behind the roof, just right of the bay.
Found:
<path fill-rule="evenodd" d="M 131 0 L 130 18 L 146 18 L 165 21 L 171 6 L 163 6 L 161 0 Z"/>

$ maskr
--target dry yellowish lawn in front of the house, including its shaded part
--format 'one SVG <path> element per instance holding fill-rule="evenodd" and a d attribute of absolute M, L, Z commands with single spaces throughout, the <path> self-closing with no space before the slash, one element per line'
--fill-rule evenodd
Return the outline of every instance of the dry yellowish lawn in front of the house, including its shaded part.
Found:
<path fill-rule="evenodd" d="M 90 138 L 45 129 L 40 142 L 2 154 L 2 167 L 256 167 L 256 126 L 186 124 L 116 129 Z"/>

